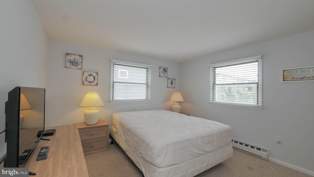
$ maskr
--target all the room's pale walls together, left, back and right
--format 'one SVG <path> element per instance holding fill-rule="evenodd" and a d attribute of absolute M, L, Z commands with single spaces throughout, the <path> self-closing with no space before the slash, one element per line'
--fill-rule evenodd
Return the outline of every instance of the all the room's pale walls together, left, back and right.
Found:
<path fill-rule="evenodd" d="M 5 128 L 7 92 L 16 86 L 47 88 L 48 126 L 83 121 L 85 108 L 78 105 L 86 91 L 100 93 L 105 102 L 105 107 L 99 108 L 100 119 L 110 122 L 111 114 L 118 111 L 170 110 L 171 93 L 181 90 L 183 113 L 229 124 L 234 139 L 267 148 L 272 161 L 314 175 L 314 82 L 281 82 L 283 68 L 314 65 L 314 31 L 179 64 L 56 40 L 48 40 L 47 46 L 46 34 L 31 0 L 1 0 L 0 22 L 0 130 Z M 64 68 L 65 53 L 83 55 L 83 69 Z M 207 65 L 255 55 L 263 56 L 265 108 L 253 111 L 209 105 Z M 108 104 L 110 59 L 154 66 L 150 103 Z M 177 80 L 176 89 L 166 88 L 166 79 L 158 77 L 159 66 L 168 67 L 169 78 Z M 82 71 L 99 72 L 99 85 L 82 86 Z M 276 135 L 283 137 L 282 144 L 276 143 Z M 3 153 L 1 134 L 0 157 Z"/>

